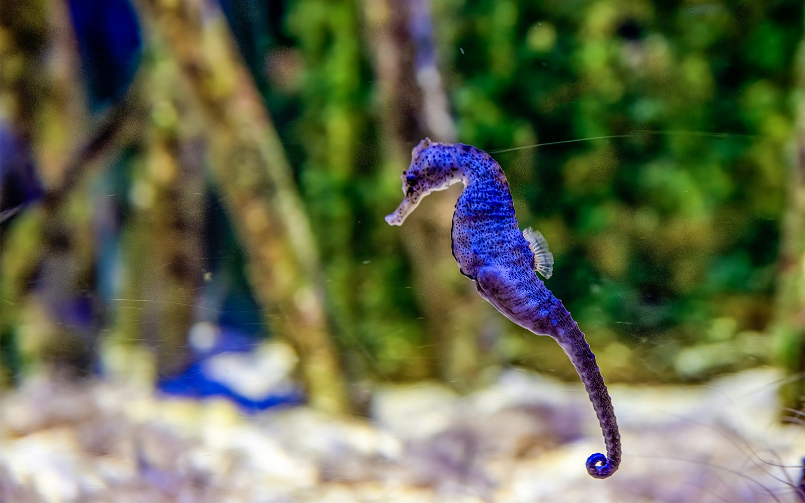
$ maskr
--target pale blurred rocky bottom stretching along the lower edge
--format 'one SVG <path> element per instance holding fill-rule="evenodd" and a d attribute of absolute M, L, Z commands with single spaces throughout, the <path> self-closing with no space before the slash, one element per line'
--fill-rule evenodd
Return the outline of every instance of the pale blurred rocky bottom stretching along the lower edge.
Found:
<path fill-rule="evenodd" d="M 464 397 L 381 386 L 368 418 L 32 380 L 0 399 L 0 501 L 799 501 L 805 431 L 779 421 L 780 379 L 612 386 L 607 480 L 584 469 L 604 447 L 582 386 L 517 370 Z"/>

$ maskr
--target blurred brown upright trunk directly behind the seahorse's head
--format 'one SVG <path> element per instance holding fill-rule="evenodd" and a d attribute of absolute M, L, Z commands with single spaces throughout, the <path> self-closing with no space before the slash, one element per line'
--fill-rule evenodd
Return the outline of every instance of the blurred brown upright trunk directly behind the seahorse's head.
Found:
<path fill-rule="evenodd" d="M 391 169 L 396 174 L 408 162 L 415 139 L 430 136 L 453 142 L 456 127 L 437 65 L 429 0 L 367 0 L 363 7 L 378 75 L 378 120 L 387 143 L 389 176 Z M 434 359 L 438 373 L 452 385 L 468 387 L 484 366 L 477 343 L 484 310 L 464 282 L 445 277 L 453 262 L 450 225 L 438 216 L 450 211 L 452 200 L 439 202 L 439 211 L 411 216 L 402 242 L 409 262 L 415 264 L 416 298 L 439 353 Z"/>

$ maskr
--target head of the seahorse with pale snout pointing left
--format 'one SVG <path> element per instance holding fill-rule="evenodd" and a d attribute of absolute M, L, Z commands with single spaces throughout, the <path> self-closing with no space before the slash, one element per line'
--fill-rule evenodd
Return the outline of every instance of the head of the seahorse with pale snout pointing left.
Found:
<path fill-rule="evenodd" d="M 403 225 L 424 196 L 464 180 L 464 171 L 456 163 L 454 147 L 425 138 L 411 150 L 411 166 L 403 171 L 402 176 L 405 196 L 398 208 L 386 216 L 389 225 Z"/>

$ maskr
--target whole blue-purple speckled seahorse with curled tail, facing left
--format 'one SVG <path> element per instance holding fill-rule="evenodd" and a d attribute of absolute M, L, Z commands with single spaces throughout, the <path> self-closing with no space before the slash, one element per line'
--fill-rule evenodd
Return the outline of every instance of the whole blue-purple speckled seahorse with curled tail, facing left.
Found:
<path fill-rule="evenodd" d="M 568 354 L 606 444 L 606 456 L 588 457 L 587 471 L 597 479 L 612 475 L 621 462 L 621 435 L 612 399 L 584 333 L 536 274 L 539 270 L 550 277 L 553 258 L 541 234 L 520 231 L 500 165 L 474 146 L 425 138 L 411 152 L 411 166 L 402 178 L 405 196 L 386 216 L 390 225 L 403 225 L 427 194 L 464 183 L 452 219 L 452 254 L 461 274 L 475 282 L 481 297 L 497 311 L 537 335 L 553 337 Z"/>

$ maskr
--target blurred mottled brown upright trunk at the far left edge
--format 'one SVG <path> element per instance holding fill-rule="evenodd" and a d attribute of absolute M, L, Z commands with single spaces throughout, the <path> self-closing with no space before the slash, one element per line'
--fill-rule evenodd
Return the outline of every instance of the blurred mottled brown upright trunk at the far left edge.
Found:
<path fill-rule="evenodd" d="M 43 196 L 41 206 L 15 214 L 14 225 L 4 222 L 0 338 L 6 352 L 13 350 L 26 295 L 37 287 L 52 320 L 41 344 L 29 347 L 33 353 L 20 358 L 35 364 L 41 356 L 52 357 L 61 370 L 83 375 L 91 371 L 104 310 L 93 295 L 96 249 L 82 175 L 101 164 L 99 157 L 109 151 L 129 113 L 116 108 L 90 118 L 82 100 L 76 99 L 84 93 L 63 3 L 12 1 L 0 12 L 7 42 L 0 54 L 2 115 L 20 143 L 30 146 L 31 163 L 44 190 L 35 198 Z M 10 362 L 4 358 L 3 363 Z"/>

